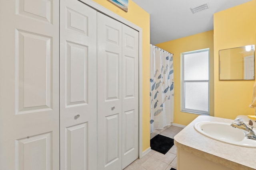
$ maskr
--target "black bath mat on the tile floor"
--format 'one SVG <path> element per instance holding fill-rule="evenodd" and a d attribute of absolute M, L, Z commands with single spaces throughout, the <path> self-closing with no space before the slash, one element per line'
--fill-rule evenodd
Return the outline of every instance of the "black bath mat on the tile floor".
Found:
<path fill-rule="evenodd" d="M 166 154 L 173 145 L 173 139 L 163 135 L 156 135 L 150 140 L 151 149 L 156 150 L 162 154 Z"/>

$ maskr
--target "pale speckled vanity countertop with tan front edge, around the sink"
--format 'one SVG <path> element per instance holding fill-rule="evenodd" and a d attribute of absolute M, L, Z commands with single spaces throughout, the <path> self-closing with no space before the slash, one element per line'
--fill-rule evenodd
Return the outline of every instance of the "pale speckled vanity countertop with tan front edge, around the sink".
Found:
<path fill-rule="evenodd" d="M 210 139 L 194 129 L 194 124 L 201 121 L 234 122 L 231 119 L 200 115 L 174 137 L 174 144 L 178 149 L 234 170 L 256 170 L 256 148 L 240 147 Z"/>

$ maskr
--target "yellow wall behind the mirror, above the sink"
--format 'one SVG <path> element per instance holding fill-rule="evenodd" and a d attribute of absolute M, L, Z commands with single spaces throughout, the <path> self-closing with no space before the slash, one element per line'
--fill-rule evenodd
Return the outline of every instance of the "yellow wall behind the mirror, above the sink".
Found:
<path fill-rule="evenodd" d="M 214 14 L 214 115 L 234 119 L 253 115 L 254 80 L 220 81 L 218 52 L 256 43 L 256 0 Z"/>

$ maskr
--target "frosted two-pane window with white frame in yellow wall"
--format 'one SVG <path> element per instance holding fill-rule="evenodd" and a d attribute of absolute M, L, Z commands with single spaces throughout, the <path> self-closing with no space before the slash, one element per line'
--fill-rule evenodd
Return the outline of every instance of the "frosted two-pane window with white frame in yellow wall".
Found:
<path fill-rule="evenodd" d="M 181 111 L 209 115 L 209 49 L 181 53 Z"/>

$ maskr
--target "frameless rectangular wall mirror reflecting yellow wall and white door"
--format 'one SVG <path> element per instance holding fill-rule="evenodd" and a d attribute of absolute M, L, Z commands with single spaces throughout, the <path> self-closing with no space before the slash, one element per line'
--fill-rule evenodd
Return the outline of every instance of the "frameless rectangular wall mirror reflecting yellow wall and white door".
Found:
<path fill-rule="evenodd" d="M 220 80 L 254 80 L 255 46 L 219 50 Z"/>

